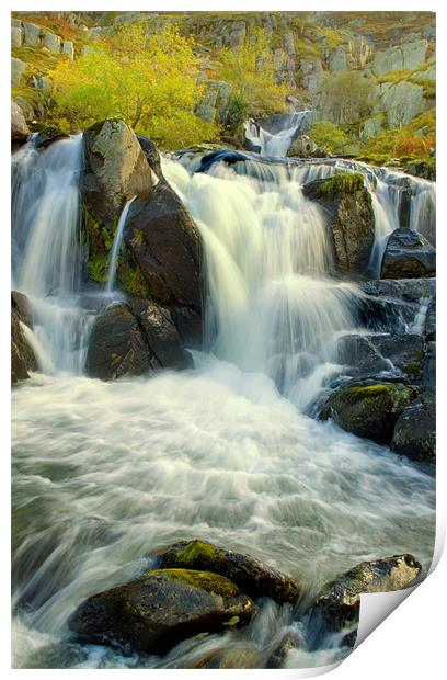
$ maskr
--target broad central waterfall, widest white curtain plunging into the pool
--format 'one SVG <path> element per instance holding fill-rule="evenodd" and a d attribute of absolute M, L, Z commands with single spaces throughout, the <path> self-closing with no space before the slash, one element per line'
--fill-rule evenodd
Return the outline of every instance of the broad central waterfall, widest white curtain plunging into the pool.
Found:
<path fill-rule="evenodd" d="M 213 352 L 271 376 L 305 407 L 336 370 L 336 339 L 355 326 L 357 291 L 329 277 L 320 208 L 294 171 L 263 181 L 215 163 L 190 175 L 165 159 L 163 173 L 203 237 Z"/>

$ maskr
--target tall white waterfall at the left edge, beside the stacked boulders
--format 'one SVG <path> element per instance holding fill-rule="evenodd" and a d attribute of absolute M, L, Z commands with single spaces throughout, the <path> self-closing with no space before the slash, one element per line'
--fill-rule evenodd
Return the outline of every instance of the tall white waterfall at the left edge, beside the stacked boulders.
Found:
<path fill-rule="evenodd" d="M 89 316 L 80 305 L 78 177 L 82 136 L 13 156 L 13 285 L 32 308 L 34 335 L 54 370 L 80 373 Z M 47 364 L 48 365 L 48 364 Z"/>

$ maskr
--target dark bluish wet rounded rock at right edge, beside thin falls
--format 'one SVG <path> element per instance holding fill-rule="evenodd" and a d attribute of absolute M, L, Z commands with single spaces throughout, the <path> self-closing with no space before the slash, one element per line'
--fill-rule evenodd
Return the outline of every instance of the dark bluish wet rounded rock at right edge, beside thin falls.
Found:
<path fill-rule="evenodd" d="M 382 279 L 421 279 L 436 274 L 436 250 L 424 236 L 396 229 L 388 239 L 381 265 Z"/>

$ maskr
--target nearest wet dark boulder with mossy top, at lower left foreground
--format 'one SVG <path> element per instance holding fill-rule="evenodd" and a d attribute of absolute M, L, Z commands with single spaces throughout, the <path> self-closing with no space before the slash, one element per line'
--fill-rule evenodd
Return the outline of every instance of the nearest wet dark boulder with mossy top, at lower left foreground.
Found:
<path fill-rule="evenodd" d="M 248 623 L 253 603 L 234 583 L 209 571 L 146 571 L 85 600 L 69 625 L 88 643 L 163 654 L 199 633 L 220 632 L 237 617 Z"/>

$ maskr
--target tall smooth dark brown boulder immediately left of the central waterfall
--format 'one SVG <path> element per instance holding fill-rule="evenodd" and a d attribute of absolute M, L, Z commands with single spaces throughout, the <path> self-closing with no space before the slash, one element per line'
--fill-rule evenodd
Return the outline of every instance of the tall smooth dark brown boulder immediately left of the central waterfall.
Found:
<path fill-rule="evenodd" d="M 124 239 L 158 302 L 200 313 L 198 231 L 169 184 L 133 203 Z"/>

